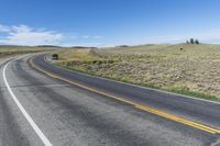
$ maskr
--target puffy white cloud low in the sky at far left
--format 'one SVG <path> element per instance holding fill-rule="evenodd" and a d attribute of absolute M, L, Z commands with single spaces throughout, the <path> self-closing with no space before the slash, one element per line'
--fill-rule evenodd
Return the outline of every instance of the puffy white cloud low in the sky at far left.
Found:
<path fill-rule="evenodd" d="M 4 38 L 0 38 L 0 44 L 7 45 L 59 45 L 64 38 L 61 33 L 36 30 L 26 25 L 0 25 L 1 32 L 8 33 Z"/>

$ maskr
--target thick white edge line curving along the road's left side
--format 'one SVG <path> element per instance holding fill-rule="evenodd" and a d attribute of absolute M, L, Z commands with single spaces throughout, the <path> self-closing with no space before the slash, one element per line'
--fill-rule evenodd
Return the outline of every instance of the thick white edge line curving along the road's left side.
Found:
<path fill-rule="evenodd" d="M 8 65 L 11 61 L 9 61 L 4 67 L 3 67 L 3 81 L 7 86 L 7 89 L 9 91 L 9 93 L 11 94 L 12 99 L 14 100 L 14 102 L 16 103 L 16 105 L 19 106 L 20 111 L 23 113 L 24 117 L 28 120 L 28 122 L 30 123 L 30 125 L 32 126 L 32 128 L 36 132 L 36 134 L 38 135 L 38 137 L 41 138 L 41 141 L 44 143 L 45 146 L 53 146 L 52 143 L 48 141 L 48 138 L 44 135 L 44 133 L 40 130 L 40 127 L 35 124 L 35 122 L 33 121 L 33 119 L 30 116 L 30 114 L 25 111 L 25 109 L 22 106 L 22 104 L 20 103 L 20 101 L 18 100 L 18 98 L 15 97 L 15 94 L 13 93 L 13 91 L 11 90 L 9 82 L 7 80 L 6 77 L 6 70 Z"/>

